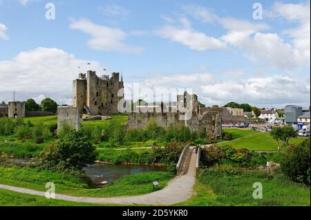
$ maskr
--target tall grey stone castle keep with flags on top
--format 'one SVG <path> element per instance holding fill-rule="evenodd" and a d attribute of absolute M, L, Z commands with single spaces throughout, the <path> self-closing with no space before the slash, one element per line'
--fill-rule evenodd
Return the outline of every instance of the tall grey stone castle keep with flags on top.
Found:
<path fill-rule="evenodd" d="M 123 88 L 118 72 L 113 72 L 111 78 L 108 75 L 97 77 L 91 70 L 87 74 L 80 73 L 79 79 L 73 80 L 73 106 L 84 114 L 117 114 L 117 104 L 123 99 L 117 94 Z"/>

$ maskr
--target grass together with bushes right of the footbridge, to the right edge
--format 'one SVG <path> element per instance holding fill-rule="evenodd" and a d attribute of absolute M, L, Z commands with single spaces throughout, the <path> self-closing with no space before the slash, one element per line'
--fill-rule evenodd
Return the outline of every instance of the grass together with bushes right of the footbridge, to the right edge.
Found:
<path fill-rule="evenodd" d="M 310 139 L 274 154 L 214 146 L 203 155 L 196 194 L 180 206 L 310 206 Z M 258 169 L 266 157 L 281 166 Z M 262 199 L 254 199 L 254 183 L 263 186 Z"/>

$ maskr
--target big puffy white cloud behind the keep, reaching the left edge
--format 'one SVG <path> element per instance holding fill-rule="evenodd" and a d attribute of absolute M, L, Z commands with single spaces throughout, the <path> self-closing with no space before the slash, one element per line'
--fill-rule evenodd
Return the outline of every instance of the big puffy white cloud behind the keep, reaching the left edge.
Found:
<path fill-rule="evenodd" d="M 91 62 L 91 66 L 86 63 Z M 35 48 L 20 52 L 11 61 L 0 61 L 0 100 L 12 100 L 13 90 L 17 100 L 44 97 L 59 103 L 71 103 L 73 79 L 77 79 L 79 69 L 102 72 L 100 63 L 77 59 L 73 54 L 57 48 Z"/>

